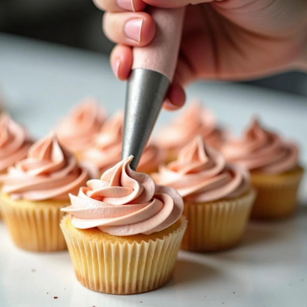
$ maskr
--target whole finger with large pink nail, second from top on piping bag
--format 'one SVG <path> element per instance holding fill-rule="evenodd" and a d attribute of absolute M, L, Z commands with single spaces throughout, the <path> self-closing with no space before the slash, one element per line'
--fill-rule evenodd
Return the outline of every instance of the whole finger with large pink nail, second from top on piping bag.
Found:
<path fill-rule="evenodd" d="M 156 25 L 150 15 L 138 13 L 105 13 L 103 31 L 113 42 L 129 46 L 145 46 L 152 41 Z"/>

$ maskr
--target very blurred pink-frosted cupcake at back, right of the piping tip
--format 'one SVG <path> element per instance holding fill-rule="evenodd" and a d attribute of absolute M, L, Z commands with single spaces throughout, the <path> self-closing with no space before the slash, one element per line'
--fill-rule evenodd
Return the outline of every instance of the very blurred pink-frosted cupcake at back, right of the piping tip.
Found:
<path fill-rule="evenodd" d="M 201 135 L 209 146 L 217 150 L 224 141 L 224 132 L 217 127 L 215 116 L 195 101 L 160 131 L 156 143 L 167 152 L 167 161 L 170 162 L 176 160 L 179 151 L 197 135 Z"/>

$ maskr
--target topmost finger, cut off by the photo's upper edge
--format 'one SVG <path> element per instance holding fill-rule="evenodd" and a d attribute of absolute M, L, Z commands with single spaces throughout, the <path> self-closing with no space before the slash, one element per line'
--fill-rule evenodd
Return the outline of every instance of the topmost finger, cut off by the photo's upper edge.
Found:
<path fill-rule="evenodd" d="M 109 12 L 139 12 L 146 6 L 142 0 L 93 0 L 93 2 L 100 10 Z"/>

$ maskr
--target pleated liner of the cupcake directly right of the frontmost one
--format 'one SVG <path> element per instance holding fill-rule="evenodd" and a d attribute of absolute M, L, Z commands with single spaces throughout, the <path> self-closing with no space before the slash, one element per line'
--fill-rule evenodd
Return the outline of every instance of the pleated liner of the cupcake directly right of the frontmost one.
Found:
<path fill-rule="evenodd" d="M 188 219 L 181 249 L 186 251 L 220 251 L 241 240 L 255 200 L 255 190 L 243 196 L 211 203 L 185 203 Z"/>

